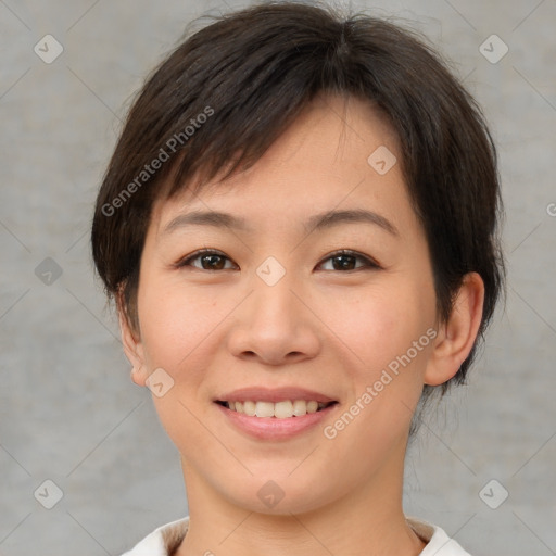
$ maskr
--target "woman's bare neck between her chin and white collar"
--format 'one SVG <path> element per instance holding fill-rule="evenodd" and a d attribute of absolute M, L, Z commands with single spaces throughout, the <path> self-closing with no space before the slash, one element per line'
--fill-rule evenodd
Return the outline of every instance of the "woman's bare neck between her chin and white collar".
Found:
<path fill-rule="evenodd" d="M 393 471 L 399 480 L 392 480 Z M 403 465 L 343 498 L 283 515 L 239 507 L 215 493 L 193 469 L 184 466 L 184 472 L 190 527 L 177 556 L 418 556 L 426 546 L 403 514 Z"/>

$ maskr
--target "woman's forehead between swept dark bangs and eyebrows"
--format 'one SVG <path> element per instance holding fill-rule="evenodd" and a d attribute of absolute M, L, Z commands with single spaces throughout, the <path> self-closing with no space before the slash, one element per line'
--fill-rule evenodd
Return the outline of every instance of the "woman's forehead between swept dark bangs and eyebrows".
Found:
<path fill-rule="evenodd" d="M 381 208 L 402 216 L 400 205 L 408 203 L 401 162 L 396 134 L 380 111 L 353 97 L 320 96 L 251 168 L 217 176 L 199 193 L 185 187 L 159 199 L 151 224 L 159 235 L 177 214 L 211 207 L 260 225 L 364 205 L 390 204 Z"/>

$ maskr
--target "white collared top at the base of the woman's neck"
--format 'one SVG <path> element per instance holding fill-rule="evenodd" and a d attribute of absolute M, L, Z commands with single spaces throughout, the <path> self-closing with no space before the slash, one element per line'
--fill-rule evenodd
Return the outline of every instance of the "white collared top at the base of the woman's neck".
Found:
<path fill-rule="evenodd" d="M 440 528 L 415 518 L 406 518 L 412 529 L 428 543 L 420 556 L 471 556 Z M 186 536 L 189 518 L 159 527 L 122 556 L 172 556 Z"/>

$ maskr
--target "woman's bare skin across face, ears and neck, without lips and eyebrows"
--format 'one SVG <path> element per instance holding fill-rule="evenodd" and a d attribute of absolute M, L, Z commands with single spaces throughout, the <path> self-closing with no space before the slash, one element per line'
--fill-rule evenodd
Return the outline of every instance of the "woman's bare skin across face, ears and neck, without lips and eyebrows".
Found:
<path fill-rule="evenodd" d="M 190 530 L 178 555 L 419 554 L 405 521 L 403 466 L 422 384 L 459 368 L 480 324 L 483 285 L 469 274 L 447 323 L 439 323 L 427 241 L 400 162 L 379 175 L 367 162 L 380 146 L 402 160 L 395 135 L 369 104 L 321 97 L 249 170 L 213 181 L 198 197 L 160 201 L 141 258 L 134 331 L 121 312 L 132 379 L 163 368 L 174 386 L 153 396 L 176 444 Z M 303 227 L 309 216 L 366 208 L 371 223 Z M 193 210 L 243 217 L 251 230 L 190 225 Z M 214 249 L 218 270 L 186 255 Z M 331 255 L 353 250 L 375 260 Z M 268 286 L 256 270 L 269 256 L 286 274 Z M 205 261 L 205 268 L 211 266 Z M 353 266 L 350 266 L 352 264 Z M 323 427 L 361 399 L 396 356 L 433 329 L 435 338 L 333 439 Z M 299 387 L 338 401 L 326 421 L 289 440 L 253 439 L 214 400 L 244 387 Z M 267 481 L 285 493 L 273 508 Z M 222 543 L 222 544 L 219 544 Z"/>

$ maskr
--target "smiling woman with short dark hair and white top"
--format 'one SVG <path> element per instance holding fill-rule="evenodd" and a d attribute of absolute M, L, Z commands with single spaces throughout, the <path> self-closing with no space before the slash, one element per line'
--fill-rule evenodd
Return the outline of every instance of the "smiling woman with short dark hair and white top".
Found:
<path fill-rule="evenodd" d="M 480 110 L 412 33 L 283 2 L 185 40 L 92 226 L 189 504 L 127 554 L 467 554 L 404 515 L 404 457 L 491 319 L 500 207 Z"/>

